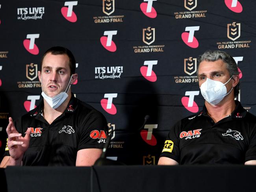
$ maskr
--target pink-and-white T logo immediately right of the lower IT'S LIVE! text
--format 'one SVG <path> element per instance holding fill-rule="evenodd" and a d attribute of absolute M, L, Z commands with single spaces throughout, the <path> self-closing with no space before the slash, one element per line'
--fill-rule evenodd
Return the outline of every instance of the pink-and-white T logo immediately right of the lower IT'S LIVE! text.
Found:
<path fill-rule="evenodd" d="M 157 65 L 158 61 L 144 61 L 144 65 L 140 68 L 141 75 L 148 81 L 155 82 L 157 80 L 156 73 L 152 70 L 154 65 Z"/>

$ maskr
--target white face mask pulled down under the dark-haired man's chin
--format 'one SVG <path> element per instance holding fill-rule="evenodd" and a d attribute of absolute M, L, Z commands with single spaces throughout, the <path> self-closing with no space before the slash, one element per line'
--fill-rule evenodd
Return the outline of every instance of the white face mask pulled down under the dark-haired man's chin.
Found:
<path fill-rule="evenodd" d="M 69 92 L 69 88 L 70 88 L 70 81 L 72 79 L 72 75 L 70 77 L 69 80 L 69 84 L 67 86 L 67 89 L 65 90 L 65 92 L 60 92 L 58 95 L 54 96 L 54 97 L 49 97 L 45 94 L 45 92 L 43 92 L 42 89 L 42 93 L 41 95 L 43 96 L 43 98 L 45 99 L 45 101 L 53 108 L 56 109 L 59 107 L 59 105 L 61 105 L 67 98 L 68 98 L 68 94 L 67 92 Z M 41 83 L 42 83 L 42 76 L 41 76 Z"/>

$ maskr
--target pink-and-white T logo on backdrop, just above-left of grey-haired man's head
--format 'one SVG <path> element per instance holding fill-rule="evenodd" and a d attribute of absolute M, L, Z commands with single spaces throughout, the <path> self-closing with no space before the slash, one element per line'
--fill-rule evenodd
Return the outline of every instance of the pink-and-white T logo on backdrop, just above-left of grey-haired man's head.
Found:
<path fill-rule="evenodd" d="M 194 37 L 195 31 L 198 31 L 200 26 L 191 26 L 186 27 L 185 31 L 189 32 L 183 32 L 181 34 L 182 41 L 191 48 L 198 48 L 199 43 L 197 41 L 197 38 Z"/>

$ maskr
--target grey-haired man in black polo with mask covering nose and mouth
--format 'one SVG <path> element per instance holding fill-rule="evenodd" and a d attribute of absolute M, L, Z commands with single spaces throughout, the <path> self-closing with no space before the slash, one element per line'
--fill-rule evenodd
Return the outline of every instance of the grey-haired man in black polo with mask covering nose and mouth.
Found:
<path fill-rule="evenodd" d="M 177 122 L 168 134 L 159 165 L 256 164 L 256 116 L 234 100 L 239 72 L 222 51 L 198 57 L 199 88 L 205 105 Z"/>

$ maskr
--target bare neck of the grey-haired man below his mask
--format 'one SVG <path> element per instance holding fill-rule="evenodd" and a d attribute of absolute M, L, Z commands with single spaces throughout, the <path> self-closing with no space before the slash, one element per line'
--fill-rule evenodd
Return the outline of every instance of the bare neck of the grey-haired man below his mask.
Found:
<path fill-rule="evenodd" d="M 219 104 L 211 105 L 205 102 L 208 115 L 213 119 L 213 121 L 219 122 L 226 116 L 229 116 L 236 108 L 236 103 L 233 97 L 233 91 L 230 92 Z"/>

